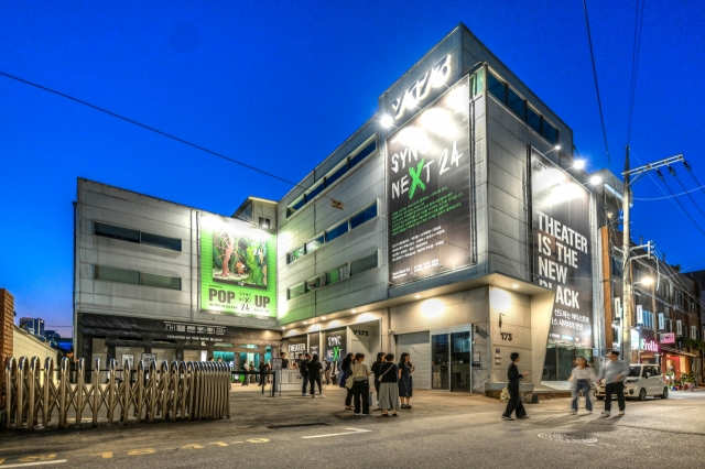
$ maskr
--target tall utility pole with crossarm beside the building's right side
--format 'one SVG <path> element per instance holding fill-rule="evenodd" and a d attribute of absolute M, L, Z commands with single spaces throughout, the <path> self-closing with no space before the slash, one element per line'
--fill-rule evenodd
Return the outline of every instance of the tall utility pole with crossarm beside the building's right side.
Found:
<path fill-rule="evenodd" d="M 633 323 L 633 312 L 632 312 L 632 282 L 631 282 L 631 261 L 636 258 L 632 257 L 631 251 L 633 249 L 644 248 L 643 246 L 638 246 L 636 248 L 631 248 L 631 241 L 629 237 L 629 207 L 631 203 L 631 185 L 637 182 L 639 176 L 648 173 L 651 170 L 655 170 L 661 166 L 668 166 L 672 163 L 682 162 L 684 157 L 682 154 L 668 157 L 665 160 L 658 161 L 655 163 L 649 163 L 643 166 L 636 167 L 633 170 L 629 168 L 629 145 L 627 145 L 627 154 L 625 157 L 625 172 L 622 176 L 625 177 L 625 188 L 622 192 L 622 214 L 623 214 L 623 229 L 622 229 L 622 257 L 623 257 L 623 268 L 622 268 L 622 309 L 621 309 L 621 358 L 622 360 L 628 360 L 631 362 L 631 325 Z M 631 178 L 633 176 L 633 179 Z M 647 244 L 647 247 L 650 244 Z M 648 248 L 647 257 L 651 255 L 651 249 Z"/>

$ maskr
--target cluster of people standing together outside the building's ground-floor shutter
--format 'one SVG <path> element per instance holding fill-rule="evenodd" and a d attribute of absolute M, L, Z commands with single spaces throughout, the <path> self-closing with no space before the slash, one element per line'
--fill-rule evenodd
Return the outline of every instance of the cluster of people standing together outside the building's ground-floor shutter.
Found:
<path fill-rule="evenodd" d="M 382 411 L 382 417 L 395 417 L 400 408 L 411 408 L 415 370 L 409 353 L 402 353 L 397 363 L 393 353 L 379 352 L 371 369 L 365 363 L 365 353 L 348 353 L 340 362 L 340 386 L 347 389 L 345 410 L 350 411 L 354 405 L 356 416 L 371 415 L 369 381 L 373 375 L 377 408 Z"/>

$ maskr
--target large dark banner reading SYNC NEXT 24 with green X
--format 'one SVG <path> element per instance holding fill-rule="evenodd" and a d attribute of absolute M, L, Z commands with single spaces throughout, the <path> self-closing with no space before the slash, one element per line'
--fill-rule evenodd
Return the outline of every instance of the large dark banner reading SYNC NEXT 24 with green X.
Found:
<path fill-rule="evenodd" d="M 400 285 L 473 263 L 469 80 L 387 139 L 389 281 Z"/>

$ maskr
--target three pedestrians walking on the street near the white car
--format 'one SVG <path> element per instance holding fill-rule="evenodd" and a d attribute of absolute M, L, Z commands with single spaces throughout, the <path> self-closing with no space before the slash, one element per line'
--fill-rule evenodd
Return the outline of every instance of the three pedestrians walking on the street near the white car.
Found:
<path fill-rule="evenodd" d="M 512 413 L 519 419 L 529 418 L 527 411 L 521 402 L 519 394 L 519 384 L 521 380 L 527 378 L 529 373 L 520 373 L 517 363 L 521 360 L 519 353 L 513 352 L 511 356 L 511 364 L 507 370 L 507 389 L 509 391 L 509 402 L 502 414 L 506 421 L 513 421 Z M 612 394 L 617 394 L 617 404 L 619 408 L 618 416 L 623 416 L 626 411 L 625 403 L 625 378 L 629 374 L 629 363 L 619 360 L 619 352 L 612 350 L 609 353 L 609 360 L 595 373 L 595 369 L 587 362 L 585 357 L 578 357 L 575 360 L 575 368 L 571 371 L 571 390 L 573 401 L 571 403 L 571 414 L 577 415 L 577 403 L 579 395 L 585 396 L 585 410 L 588 414 L 593 413 L 593 402 L 590 400 L 590 390 L 595 383 L 605 384 L 605 411 L 603 416 L 609 417 L 612 407 Z"/>

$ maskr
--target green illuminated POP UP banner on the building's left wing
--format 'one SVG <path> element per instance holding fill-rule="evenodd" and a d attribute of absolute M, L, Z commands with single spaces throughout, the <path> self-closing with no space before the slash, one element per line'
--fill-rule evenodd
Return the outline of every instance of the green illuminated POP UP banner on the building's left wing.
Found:
<path fill-rule="evenodd" d="M 214 314 L 276 316 L 276 240 L 242 220 L 200 214 L 199 305 Z"/>

